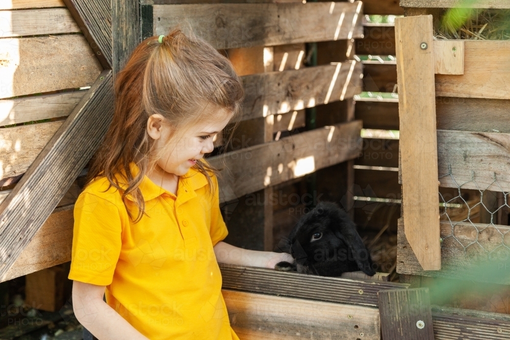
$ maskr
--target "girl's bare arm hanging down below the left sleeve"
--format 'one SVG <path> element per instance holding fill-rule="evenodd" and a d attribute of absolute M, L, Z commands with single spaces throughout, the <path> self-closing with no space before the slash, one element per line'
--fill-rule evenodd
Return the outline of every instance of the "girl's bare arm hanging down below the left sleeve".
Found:
<path fill-rule="evenodd" d="M 148 340 L 103 301 L 105 286 L 72 281 L 74 316 L 99 340 Z"/>

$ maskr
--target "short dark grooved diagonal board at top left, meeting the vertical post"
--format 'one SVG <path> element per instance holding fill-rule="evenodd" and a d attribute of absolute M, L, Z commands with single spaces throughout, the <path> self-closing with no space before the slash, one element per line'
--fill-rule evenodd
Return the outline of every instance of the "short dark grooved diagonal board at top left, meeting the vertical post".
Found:
<path fill-rule="evenodd" d="M 112 8 L 110 0 L 63 0 L 96 58 L 112 68 Z"/>

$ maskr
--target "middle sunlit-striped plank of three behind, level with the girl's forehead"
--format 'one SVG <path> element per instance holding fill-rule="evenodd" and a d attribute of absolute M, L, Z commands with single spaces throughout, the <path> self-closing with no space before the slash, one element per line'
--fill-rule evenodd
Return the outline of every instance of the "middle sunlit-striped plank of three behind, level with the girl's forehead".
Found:
<path fill-rule="evenodd" d="M 362 64 L 305 67 L 242 77 L 246 96 L 241 120 L 286 113 L 352 98 L 361 92 Z"/>

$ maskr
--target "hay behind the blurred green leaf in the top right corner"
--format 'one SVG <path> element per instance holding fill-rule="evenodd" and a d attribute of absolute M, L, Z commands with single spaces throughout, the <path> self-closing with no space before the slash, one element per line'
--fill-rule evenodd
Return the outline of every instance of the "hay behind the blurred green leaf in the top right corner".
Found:
<path fill-rule="evenodd" d="M 508 40 L 510 10 L 452 8 L 435 35 L 437 39 Z"/>

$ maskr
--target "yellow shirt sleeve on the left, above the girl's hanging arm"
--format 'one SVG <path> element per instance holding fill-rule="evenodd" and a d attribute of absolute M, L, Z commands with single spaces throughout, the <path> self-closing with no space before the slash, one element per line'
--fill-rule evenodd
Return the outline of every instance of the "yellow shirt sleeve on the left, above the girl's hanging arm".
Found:
<path fill-rule="evenodd" d="M 117 206 L 83 192 L 74 205 L 74 227 L 69 279 L 109 285 L 122 246 Z"/>

